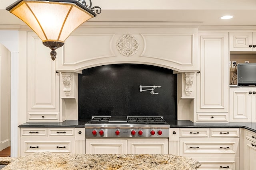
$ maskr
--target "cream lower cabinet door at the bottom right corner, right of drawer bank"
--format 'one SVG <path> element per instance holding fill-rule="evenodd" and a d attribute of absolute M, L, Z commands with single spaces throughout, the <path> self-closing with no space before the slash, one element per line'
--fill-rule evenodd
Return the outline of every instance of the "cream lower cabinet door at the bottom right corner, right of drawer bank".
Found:
<path fill-rule="evenodd" d="M 256 143 L 246 139 L 244 149 L 244 170 L 255 170 L 256 168 Z"/>

